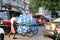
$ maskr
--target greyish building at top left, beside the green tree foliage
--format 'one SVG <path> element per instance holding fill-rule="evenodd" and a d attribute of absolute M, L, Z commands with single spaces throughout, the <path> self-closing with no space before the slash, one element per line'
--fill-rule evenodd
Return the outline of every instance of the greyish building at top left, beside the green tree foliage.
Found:
<path fill-rule="evenodd" d="M 29 12 L 28 0 L 2 0 L 0 5 L 0 10 L 16 10 L 16 11 L 26 11 Z"/>

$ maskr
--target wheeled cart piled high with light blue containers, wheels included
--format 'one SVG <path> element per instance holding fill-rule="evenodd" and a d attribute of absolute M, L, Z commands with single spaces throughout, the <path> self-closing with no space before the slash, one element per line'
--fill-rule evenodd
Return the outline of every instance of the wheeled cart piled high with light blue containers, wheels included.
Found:
<path fill-rule="evenodd" d="M 19 24 L 17 32 L 23 36 L 33 36 L 37 34 L 38 27 L 36 26 L 36 20 L 31 16 L 27 16 L 26 14 L 22 14 L 17 19 L 17 23 Z"/>

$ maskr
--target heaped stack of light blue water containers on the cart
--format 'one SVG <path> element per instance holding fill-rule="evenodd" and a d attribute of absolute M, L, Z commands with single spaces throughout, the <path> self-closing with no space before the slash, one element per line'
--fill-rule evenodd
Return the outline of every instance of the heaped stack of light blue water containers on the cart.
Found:
<path fill-rule="evenodd" d="M 17 23 L 19 23 L 18 26 L 18 33 L 23 33 L 26 32 L 30 25 L 32 24 L 36 24 L 36 20 L 34 18 L 32 18 L 32 16 L 28 16 L 26 14 L 22 14 L 17 18 Z"/>

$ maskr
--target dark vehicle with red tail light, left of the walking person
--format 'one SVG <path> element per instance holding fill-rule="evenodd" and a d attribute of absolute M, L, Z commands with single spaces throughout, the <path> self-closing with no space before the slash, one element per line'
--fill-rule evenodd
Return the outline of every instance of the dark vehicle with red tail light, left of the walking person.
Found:
<path fill-rule="evenodd" d="M 18 15 L 19 13 L 16 11 L 9 11 L 9 10 L 0 10 L 0 28 L 3 28 L 5 33 L 10 32 L 10 18 L 12 14 Z"/>

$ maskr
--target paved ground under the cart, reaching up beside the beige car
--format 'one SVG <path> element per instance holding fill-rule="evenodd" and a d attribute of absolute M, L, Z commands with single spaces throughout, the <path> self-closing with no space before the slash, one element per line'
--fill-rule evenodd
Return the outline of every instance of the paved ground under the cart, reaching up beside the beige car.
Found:
<path fill-rule="evenodd" d="M 43 36 L 43 30 L 44 30 L 44 26 L 40 26 L 37 35 L 34 35 L 33 37 L 27 37 L 27 36 L 23 37 L 23 36 L 20 36 L 20 35 L 16 35 L 16 37 L 18 39 L 14 39 L 14 40 L 52 40 L 49 37 L 44 37 Z M 5 40 L 13 40 L 12 38 L 13 38 L 12 35 L 11 35 L 10 38 L 8 37 L 8 35 L 5 35 Z"/>

